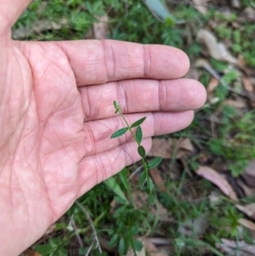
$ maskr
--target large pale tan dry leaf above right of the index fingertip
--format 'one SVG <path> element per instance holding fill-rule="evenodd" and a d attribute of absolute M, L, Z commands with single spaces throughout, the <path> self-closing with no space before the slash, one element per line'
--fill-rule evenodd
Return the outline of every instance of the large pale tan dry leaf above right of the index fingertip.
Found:
<path fill-rule="evenodd" d="M 208 53 L 217 61 L 226 61 L 231 64 L 237 64 L 237 59 L 233 57 L 223 43 L 218 43 L 214 34 L 207 29 L 200 29 L 198 31 L 198 41 L 203 43 L 208 50 Z"/>

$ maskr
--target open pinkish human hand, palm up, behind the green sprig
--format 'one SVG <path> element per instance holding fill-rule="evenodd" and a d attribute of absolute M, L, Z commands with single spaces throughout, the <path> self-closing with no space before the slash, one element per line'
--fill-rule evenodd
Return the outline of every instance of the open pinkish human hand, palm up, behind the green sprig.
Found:
<path fill-rule="evenodd" d="M 0 0 L 0 255 L 17 255 L 96 184 L 140 159 L 131 136 L 110 140 L 147 116 L 150 137 L 176 132 L 205 102 L 180 79 L 186 54 L 173 47 L 113 40 L 11 40 L 29 0 Z M 144 113 L 146 112 L 146 113 Z"/>

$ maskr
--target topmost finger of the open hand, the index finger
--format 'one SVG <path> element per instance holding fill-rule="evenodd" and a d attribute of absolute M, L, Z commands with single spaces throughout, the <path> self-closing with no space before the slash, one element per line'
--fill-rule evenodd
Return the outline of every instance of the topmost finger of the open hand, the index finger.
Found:
<path fill-rule="evenodd" d="M 77 86 L 124 79 L 177 79 L 189 70 L 182 50 L 115 40 L 56 42 L 69 59 Z"/>

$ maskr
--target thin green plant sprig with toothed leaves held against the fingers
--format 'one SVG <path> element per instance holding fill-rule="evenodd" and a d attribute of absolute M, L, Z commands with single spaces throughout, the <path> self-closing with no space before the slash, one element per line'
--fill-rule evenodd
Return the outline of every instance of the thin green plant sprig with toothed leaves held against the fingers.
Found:
<path fill-rule="evenodd" d="M 157 165 L 159 165 L 159 163 L 162 160 L 162 157 L 157 156 L 156 158 L 153 158 L 152 160 L 150 160 L 150 162 L 148 164 L 145 162 L 146 152 L 145 152 L 144 147 L 141 145 L 141 142 L 143 139 L 143 132 L 142 132 L 142 128 L 141 128 L 140 124 L 142 124 L 143 121 L 145 121 L 146 117 L 139 119 L 138 121 L 131 124 L 131 126 L 130 126 L 128 124 L 128 121 L 122 114 L 119 104 L 116 101 L 114 101 L 113 105 L 116 109 L 115 114 L 119 113 L 120 116 L 122 117 L 122 119 L 124 120 L 124 122 L 127 124 L 127 126 L 124 128 L 121 128 L 120 130 L 117 130 L 117 132 L 113 133 L 110 138 L 114 139 L 114 138 L 124 135 L 128 131 L 131 132 L 131 135 L 133 136 L 136 143 L 138 144 L 137 151 L 138 151 L 138 154 L 140 154 L 140 156 L 142 157 L 142 162 L 143 162 L 143 172 L 139 177 L 139 185 L 140 185 L 141 190 L 145 190 L 145 191 L 149 192 L 148 201 L 150 204 L 153 204 L 154 203 L 154 195 L 152 193 L 152 188 L 153 188 L 154 184 L 153 184 L 151 177 L 149 176 L 148 170 L 150 168 L 154 168 Z M 133 133 L 133 130 L 132 130 L 133 128 L 136 128 L 136 133 Z"/>

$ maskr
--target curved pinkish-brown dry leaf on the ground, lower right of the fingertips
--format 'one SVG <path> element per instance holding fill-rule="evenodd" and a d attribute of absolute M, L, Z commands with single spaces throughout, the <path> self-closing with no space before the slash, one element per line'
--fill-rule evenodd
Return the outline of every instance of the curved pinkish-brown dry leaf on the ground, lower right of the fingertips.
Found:
<path fill-rule="evenodd" d="M 196 173 L 214 183 L 225 195 L 230 197 L 232 200 L 237 200 L 237 195 L 234 192 L 233 188 L 230 186 L 228 181 L 224 179 L 216 170 L 209 168 L 207 166 L 200 166 Z"/>

